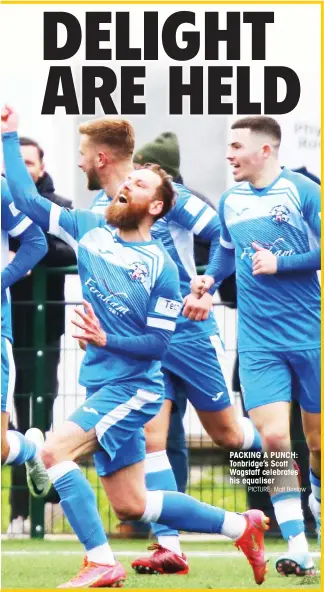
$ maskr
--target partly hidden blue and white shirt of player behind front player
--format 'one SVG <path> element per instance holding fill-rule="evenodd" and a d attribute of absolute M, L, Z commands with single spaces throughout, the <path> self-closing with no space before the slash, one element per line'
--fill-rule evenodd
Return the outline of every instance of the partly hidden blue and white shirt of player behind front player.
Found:
<path fill-rule="evenodd" d="M 151 228 L 154 239 L 161 240 L 172 260 L 176 263 L 182 296 L 190 294 L 190 281 L 197 274 L 194 260 L 194 234 L 210 241 L 210 259 L 219 244 L 220 220 L 217 212 L 183 185 L 173 183 L 175 205 L 170 212 L 157 220 Z M 104 191 L 98 193 L 92 202 L 93 212 L 103 212 L 111 198 Z M 207 268 L 208 270 L 208 268 Z M 206 272 L 207 273 L 207 272 Z M 206 321 L 190 321 L 179 315 L 172 344 L 175 341 L 196 340 L 199 335 L 215 335 L 219 330 L 211 312 Z M 167 360 L 168 353 L 166 353 Z"/>

